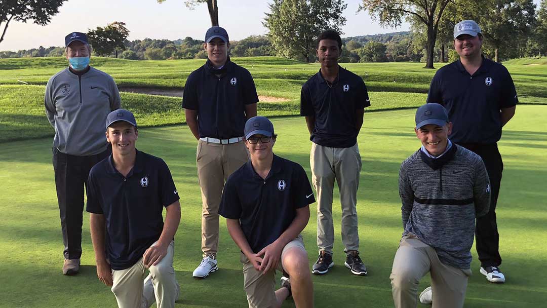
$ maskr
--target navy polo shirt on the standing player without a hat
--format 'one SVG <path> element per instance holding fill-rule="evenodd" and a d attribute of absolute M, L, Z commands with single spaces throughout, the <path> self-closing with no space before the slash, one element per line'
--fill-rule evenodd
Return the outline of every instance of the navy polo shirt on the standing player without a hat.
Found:
<path fill-rule="evenodd" d="M 320 146 L 349 148 L 357 143 L 356 110 L 370 106 L 363 79 L 339 68 L 333 85 L 323 78 L 321 69 L 303 86 L 300 115 L 315 116 L 310 140 Z"/>

